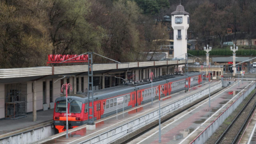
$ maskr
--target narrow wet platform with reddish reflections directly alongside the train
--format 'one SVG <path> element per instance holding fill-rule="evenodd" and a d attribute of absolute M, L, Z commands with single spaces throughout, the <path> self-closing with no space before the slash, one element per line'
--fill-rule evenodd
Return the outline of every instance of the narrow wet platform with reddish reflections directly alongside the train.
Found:
<path fill-rule="evenodd" d="M 220 83 L 220 81 L 211 81 L 211 85 L 214 85 L 217 83 Z M 204 84 L 203 86 L 202 85 L 194 86 L 187 93 L 185 93 L 183 90 L 181 92 L 172 93 L 171 95 L 163 97 L 161 99 L 161 107 L 166 106 L 171 102 L 177 101 L 179 99 L 183 99 L 184 97 L 188 97 L 189 95 L 193 95 L 193 93 L 205 90 L 206 88 L 208 88 L 208 86 L 209 86 L 208 84 Z M 146 104 L 141 104 L 136 108 L 127 109 L 126 111 L 124 111 L 124 113 L 122 112 L 118 113 L 117 118 L 116 118 L 116 115 L 111 115 L 106 118 L 96 120 L 95 130 L 86 131 L 86 125 L 82 125 L 80 127 L 76 127 L 74 129 L 68 130 L 68 139 L 65 136 L 66 132 L 61 132 L 59 134 L 50 136 L 49 138 L 46 138 L 44 140 L 37 141 L 36 143 L 81 143 L 84 140 L 90 140 L 94 136 L 97 136 L 104 132 L 108 132 L 109 129 L 114 129 L 115 127 L 118 127 L 118 125 L 122 125 L 127 122 L 130 122 L 136 118 L 139 118 L 140 116 L 150 113 L 151 111 L 156 111 L 156 109 L 158 108 L 159 108 L 158 100 L 155 100 L 153 104 L 151 104 L 151 102 L 148 102 Z"/>

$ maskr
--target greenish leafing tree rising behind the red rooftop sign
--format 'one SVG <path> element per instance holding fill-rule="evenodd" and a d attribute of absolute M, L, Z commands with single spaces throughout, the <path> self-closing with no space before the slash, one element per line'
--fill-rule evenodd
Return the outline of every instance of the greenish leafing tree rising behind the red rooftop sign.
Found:
<path fill-rule="evenodd" d="M 49 29 L 54 54 L 93 51 L 100 47 L 103 29 L 86 21 L 90 3 L 84 0 L 53 0 Z"/>

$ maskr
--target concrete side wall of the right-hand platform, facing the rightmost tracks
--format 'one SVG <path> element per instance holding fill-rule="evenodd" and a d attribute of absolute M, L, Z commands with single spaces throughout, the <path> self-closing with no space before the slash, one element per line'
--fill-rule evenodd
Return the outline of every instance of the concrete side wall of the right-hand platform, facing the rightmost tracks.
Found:
<path fill-rule="evenodd" d="M 228 106 L 223 113 L 221 113 L 208 127 L 204 129 L 190 144 L 201 144 L 205 143 L 208 138 L 220 127 L 224 120 L 243 102 L 243 100 L 252 92 L 255 88 L 255 82 L 250 83 L 249 86 L 237 95 L 240 95 L 230 106 Z"/>

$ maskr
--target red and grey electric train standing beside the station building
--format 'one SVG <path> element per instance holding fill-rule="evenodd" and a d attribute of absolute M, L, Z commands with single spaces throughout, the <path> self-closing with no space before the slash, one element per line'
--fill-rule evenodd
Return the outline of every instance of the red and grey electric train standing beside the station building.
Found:
<path fill-rule="evenodd" d="M 189 72 L 188 86 L 202 83 L 202 73 Z M 191 81 L 193 78 L 193 81 Z M 161 81 L 153 82 L 153 96 L 158 99 L 156 88 L 159 84 L 162 86 L 161 97 L 170 95 L 170 93 L 184 90 L 186 76 L 174 75 L 172 78 L 162 79 Z M 145 83 L 145 82 L 144 82 Z M 94 95 L 94 118 L 99 120 L 109 115 L 116 113 L 116 98 L 124 97 L 124 109 L 129 109 L 145 102 L 151 101 L 151 83 L 141 85 L 122 85 L 112 88 L 105 88 L 95 91 Z M 88 122 L 88 97 L 87 93 L 78 95 L 68 95 L 68 129 L 84 125 Z M 90 103 L 92 106 L 92 103 Z M 122 104 L 118 104 L 118 110 L 122 111 Z M 66 129 L 66 97 L 58 97 L 54 105 L 54 125 L 59 132 Z M 90 111 L 92 115 L 92 110 Z"/>

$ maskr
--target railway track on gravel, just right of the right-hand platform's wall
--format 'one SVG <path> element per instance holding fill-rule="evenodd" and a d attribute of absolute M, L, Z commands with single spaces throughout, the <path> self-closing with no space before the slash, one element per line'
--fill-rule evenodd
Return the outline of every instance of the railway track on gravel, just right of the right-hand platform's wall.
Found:
<path fill-rule="evenodd" d="M 244 104 L 236 117 L 228 125 L 225 131 L 221 134 L 215 144 L 218 143 L 236 143 L 240 134 L 243 133 L 244 127 L 253 115 L 256 108 L 256 92 L 253 92 L 250 99 Z M 218 131 L 218 130 L 217 130 Z"/>

